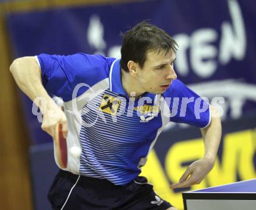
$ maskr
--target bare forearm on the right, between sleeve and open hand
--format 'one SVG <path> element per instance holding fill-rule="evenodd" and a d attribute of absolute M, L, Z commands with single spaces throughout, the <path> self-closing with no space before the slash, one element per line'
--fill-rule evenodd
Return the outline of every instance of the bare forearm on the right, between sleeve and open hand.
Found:
<path fill-rule="evenodd" d="M 214 164 L 216 154 L 219 149 L 219 143 L 221 142 L 222 126 L 221 118 L 216 117 L 218 115 L 218 111 L 212 106 L 211 113 L 215 117 L 211 118 L 211 124 L 207 128 L 201 129 L 201 133 L 205 146 L 204 157 Z"/>

